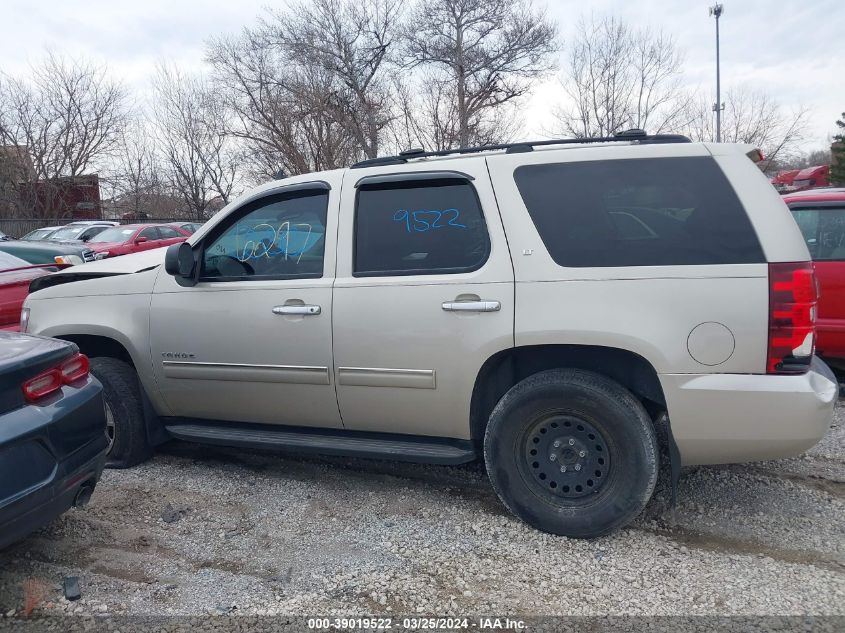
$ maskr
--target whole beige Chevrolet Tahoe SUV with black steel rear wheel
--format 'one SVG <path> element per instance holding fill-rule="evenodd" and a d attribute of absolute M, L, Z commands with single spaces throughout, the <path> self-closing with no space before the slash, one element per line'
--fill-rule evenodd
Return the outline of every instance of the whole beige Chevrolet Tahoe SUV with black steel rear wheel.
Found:
<path fill-rule="evenodd" d="M 667 416 L 675 478 L 830 425 L 812 263 L 758 155 L 638 131 L 274 181 L 166 256 L 36 281 L 24 329 L 92 357 L 114 466 L 169 438 L 482 458 L 516 516 L 599 536 L 651 497 Z"/>

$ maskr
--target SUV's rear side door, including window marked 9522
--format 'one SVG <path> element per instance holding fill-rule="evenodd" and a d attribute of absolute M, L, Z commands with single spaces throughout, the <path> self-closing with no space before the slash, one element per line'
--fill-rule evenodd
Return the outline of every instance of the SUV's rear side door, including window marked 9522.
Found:
<path fill-rule="evenodd" d="M 468 439 L 485 360 L 513 346 L 513 267 L 483 158 L 347 172 L 334 291 L 348 429 Z"/>

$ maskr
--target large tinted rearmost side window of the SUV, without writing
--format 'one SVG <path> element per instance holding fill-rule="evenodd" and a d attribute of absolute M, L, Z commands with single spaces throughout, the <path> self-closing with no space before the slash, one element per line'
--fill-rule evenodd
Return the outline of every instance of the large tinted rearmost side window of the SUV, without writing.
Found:
<path fill-rule="evenodd" d="M 712 158 L 525 165 L 514 178 L 559 266 L 766 261 L 745 210 Z"/>

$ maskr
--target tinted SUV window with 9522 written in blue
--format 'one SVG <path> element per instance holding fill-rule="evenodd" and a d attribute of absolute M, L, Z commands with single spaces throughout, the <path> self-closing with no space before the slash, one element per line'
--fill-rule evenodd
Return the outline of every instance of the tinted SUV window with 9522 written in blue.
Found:
<path fill-rule="evenodd" d="M 355 209 L 356 277 L 462 273 L 490 242 L 473 186 L 460 179 L 361 185 Z"/>

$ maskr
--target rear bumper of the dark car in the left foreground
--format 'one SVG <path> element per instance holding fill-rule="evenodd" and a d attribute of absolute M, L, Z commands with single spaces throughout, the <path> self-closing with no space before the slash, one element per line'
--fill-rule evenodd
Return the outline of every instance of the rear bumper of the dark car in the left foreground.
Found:
<path fill-rule="evenodd" d="M 0 549 L 68 510 L 100 479 L 106 459 L 102 387 L 0 415 Z"/>

